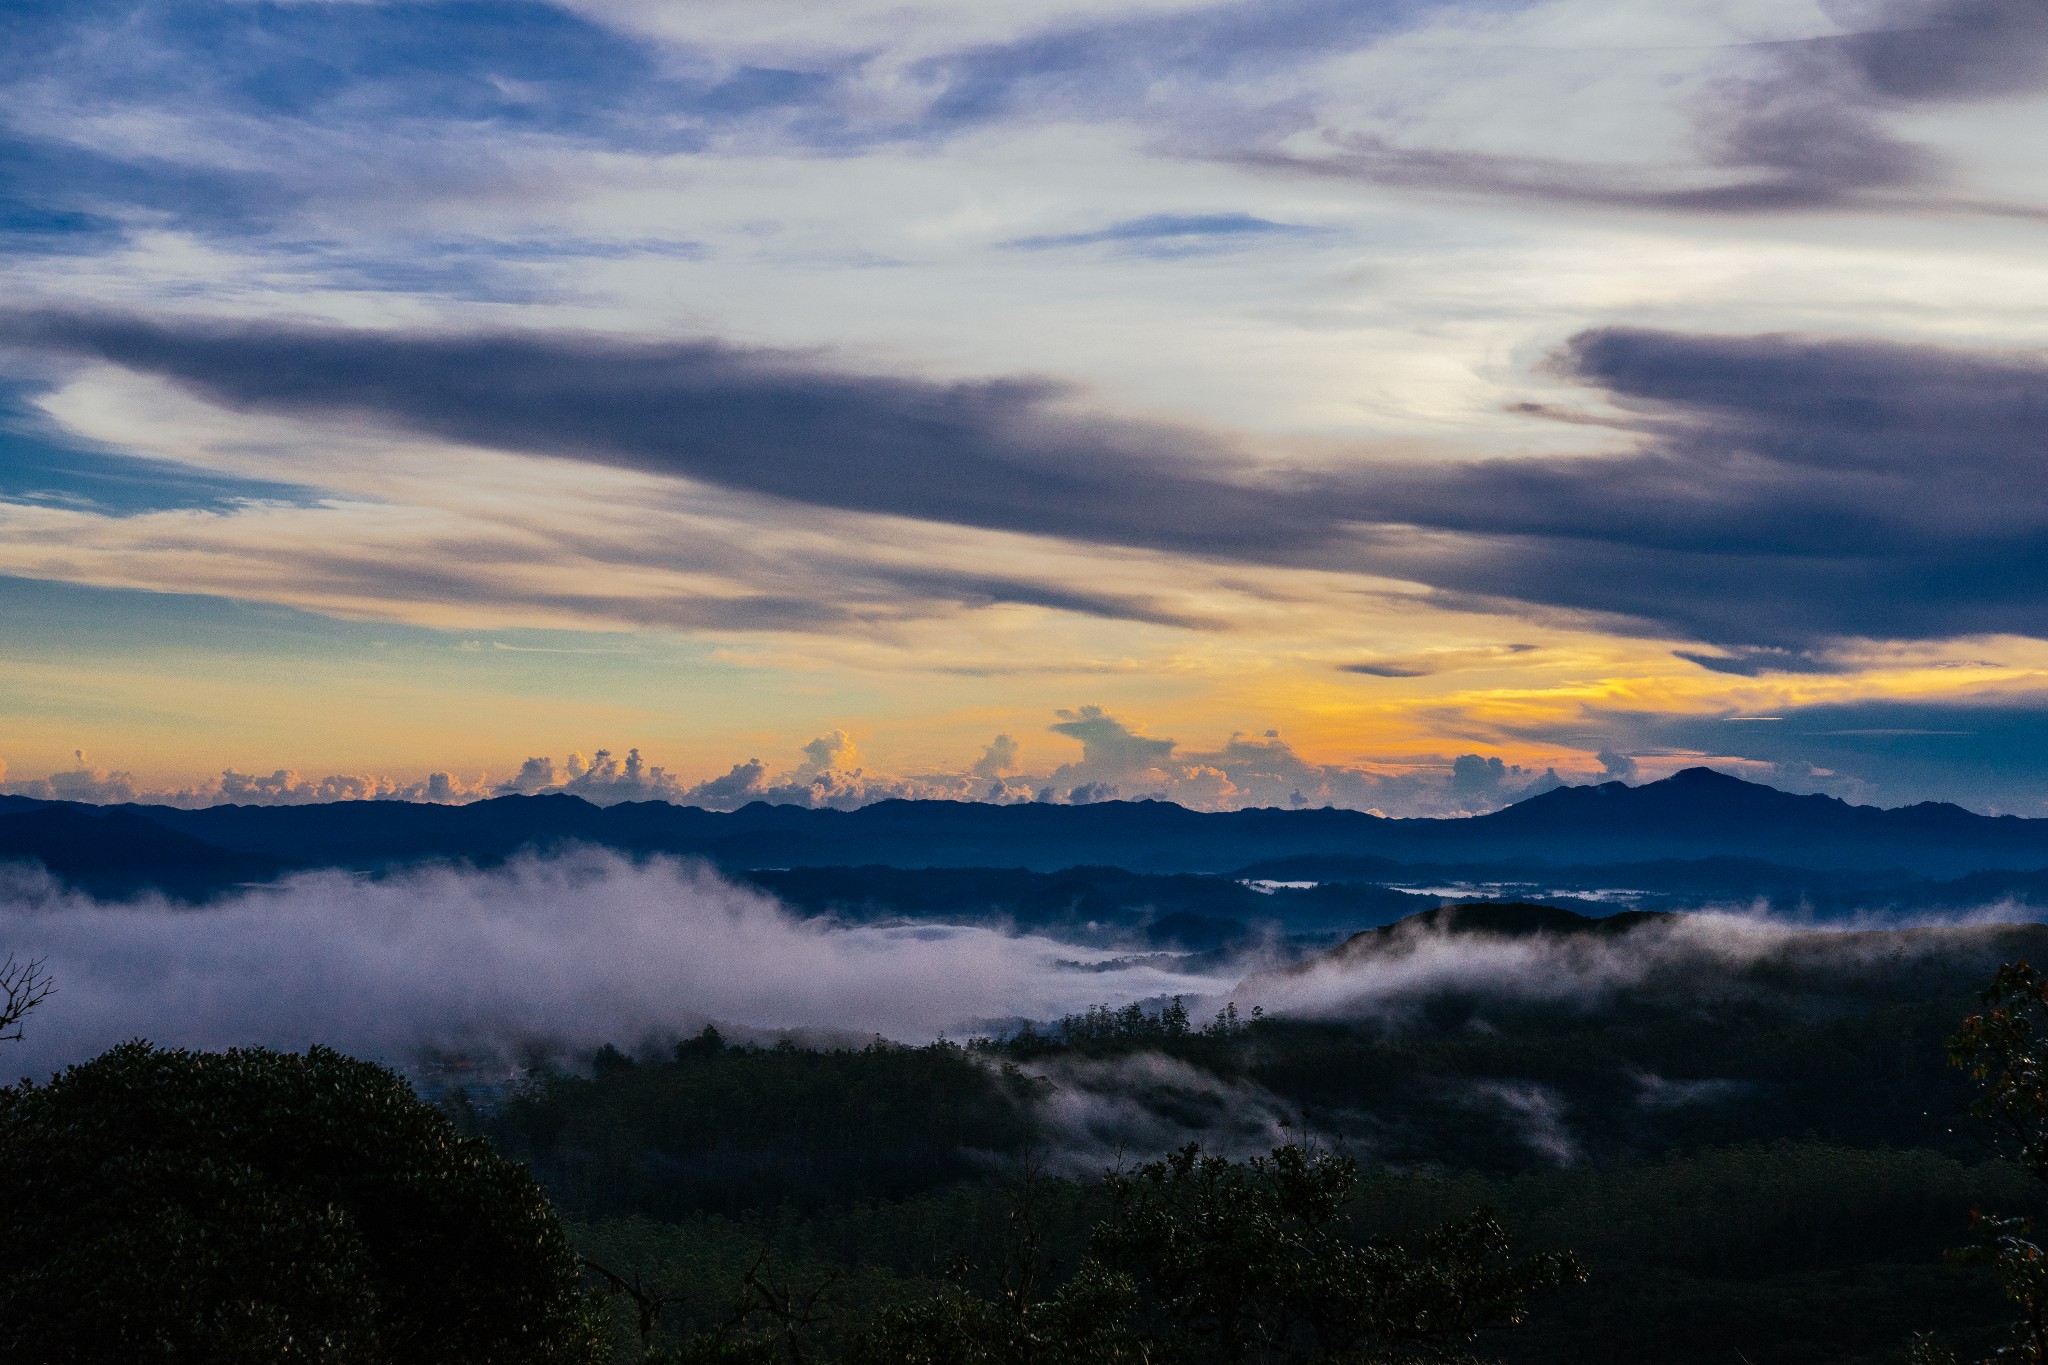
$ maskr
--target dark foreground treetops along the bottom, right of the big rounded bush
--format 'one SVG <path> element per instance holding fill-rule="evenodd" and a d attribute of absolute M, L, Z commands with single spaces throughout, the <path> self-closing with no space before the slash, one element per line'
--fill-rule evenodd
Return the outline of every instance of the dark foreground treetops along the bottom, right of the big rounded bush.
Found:
<path fill-rule="evenodd" d="M 1513 1261 L 1485 1214 L 1366 1238 L 1356 1183 L 1350 1160 L 1294 1146 L 1251 1162 L 1188 1148 L 1096 1185 L 1028 1175 L 920 1205 L 578 1236 L 637 1310 L 621 1347 L 664 1361 L 1462 1361 L 1475 1332 L 1577 1277 L 1567 1257 Z"/>

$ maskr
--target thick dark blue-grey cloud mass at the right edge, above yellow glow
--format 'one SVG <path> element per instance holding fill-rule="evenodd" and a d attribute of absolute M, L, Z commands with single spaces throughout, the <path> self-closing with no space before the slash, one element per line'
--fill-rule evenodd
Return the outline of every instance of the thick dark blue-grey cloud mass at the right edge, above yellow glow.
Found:
<path fill-rule="evenodd" d="M 1376 481 L 1378 518 L 1464 532 L 1409 573 L 1739 647 L 1698 659 L 1737 673 L 2048 634 L 2040 356 L 1602 329 L 1559 362 L 1638 413 L 1638 452 Z"/>

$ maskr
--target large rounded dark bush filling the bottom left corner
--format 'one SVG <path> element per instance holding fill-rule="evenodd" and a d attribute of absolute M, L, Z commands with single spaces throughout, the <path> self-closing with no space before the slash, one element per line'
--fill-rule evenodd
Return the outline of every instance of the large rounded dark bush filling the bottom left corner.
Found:
<path fill-rule="evenodd" d="M 0 1359 L 573 1365 L 524 1169 L 393 1072 L 125 1044 L 0 1091 Z"/>

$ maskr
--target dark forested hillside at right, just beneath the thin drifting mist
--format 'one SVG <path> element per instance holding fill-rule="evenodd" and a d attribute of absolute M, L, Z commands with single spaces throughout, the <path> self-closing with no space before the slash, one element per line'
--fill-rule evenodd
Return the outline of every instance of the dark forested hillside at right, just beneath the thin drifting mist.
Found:
<path fill-rule="evenodd" d="M 1642 931 L 1585 923 L 1579 937 L 1602 954 L 1628 952 Z M 1436 990 L 1378 1017 L 1268 1015 L 1221 1031 L 1128 1019 L 1126 1007 L 1020 1031 L 1001 1050 L 1161 1052 L 1253 1083 L 1399 1164 L 1513 1173 L 1806 1136 L 1976 1156 L 1980 1140 L 1958 1124 L 1970 1087 L 1946 1040 L 2001 956 L 2044 943 L 2036 925 L 1831 933 L 1747 964 L 1647 956 L 1640 976 L 1559 1001 Z M 1370 970 L 1401 941 L 1362 935 L 1350 952 Z M 1257 999 L 1257 982 L 1239 995 Z M 1501 1103 L 1503 1087 L 1563 1115 L 1565 1144 Z"/>

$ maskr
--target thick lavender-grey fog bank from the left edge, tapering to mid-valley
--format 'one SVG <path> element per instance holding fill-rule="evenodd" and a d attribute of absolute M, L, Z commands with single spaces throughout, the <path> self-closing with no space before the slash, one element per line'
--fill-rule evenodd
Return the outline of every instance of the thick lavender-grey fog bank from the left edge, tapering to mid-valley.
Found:
<path fill-rule="evenodd" d="M 496 872 L 309 874 L 199 911 L 96 905 L 16 878 L 0 886 L 0 941 L 45 958 L 57 982 L 0 1062 L 20 1070 L 135 1036 L 322 1042 L 399 1064 L 428 1048 L 633 1046 L 711 1019 L 918 1042 L 1229 984 L 991 929 L 805 921 L 702 868 L 598 851 Z"/>

